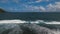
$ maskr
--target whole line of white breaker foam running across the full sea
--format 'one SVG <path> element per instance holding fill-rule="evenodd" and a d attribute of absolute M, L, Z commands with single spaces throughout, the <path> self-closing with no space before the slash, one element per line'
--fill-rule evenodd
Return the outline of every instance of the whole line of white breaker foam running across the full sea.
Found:
<path fill-rule="evenodd" d="M 29 21 L 14 19 L 14 20 L 0 20 L 0 23 L 29 23 Z M 30 23 L 60 24 L 60 22 L 57 21 L 45 22 L 43 20 L 31 21 Z"/>

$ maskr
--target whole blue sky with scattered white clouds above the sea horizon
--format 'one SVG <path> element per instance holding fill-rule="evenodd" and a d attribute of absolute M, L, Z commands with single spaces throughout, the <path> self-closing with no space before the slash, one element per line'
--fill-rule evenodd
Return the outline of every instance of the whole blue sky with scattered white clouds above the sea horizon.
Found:
<path fill-rule="evenodd" d="M 60 12 L 60 0 L 0 0 L 8 12 Z"/>

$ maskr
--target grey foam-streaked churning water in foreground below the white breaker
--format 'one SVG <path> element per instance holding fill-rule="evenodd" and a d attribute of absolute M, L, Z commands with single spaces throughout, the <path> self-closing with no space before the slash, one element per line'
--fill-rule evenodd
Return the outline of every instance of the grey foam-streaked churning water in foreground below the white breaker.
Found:
<path fill-rule="evenodd" d="M 54 34 L 36 24 L 0 24 L 0 34 Z"/>

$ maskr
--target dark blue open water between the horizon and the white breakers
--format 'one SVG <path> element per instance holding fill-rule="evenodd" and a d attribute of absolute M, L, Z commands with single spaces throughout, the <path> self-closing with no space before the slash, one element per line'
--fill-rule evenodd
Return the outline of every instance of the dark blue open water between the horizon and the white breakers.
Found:
<path fill-rule="evenodd" d="M 60 21 L 60 12 L 6 12 L 0 13 L 0 20 L 48 20 Z"/>

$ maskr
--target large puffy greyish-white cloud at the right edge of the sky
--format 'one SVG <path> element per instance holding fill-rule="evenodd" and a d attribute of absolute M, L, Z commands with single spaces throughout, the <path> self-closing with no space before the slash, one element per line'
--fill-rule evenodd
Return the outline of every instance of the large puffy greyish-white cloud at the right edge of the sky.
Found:
<path fill-rule="evenodd" d="M 55 2 L 55 4 L 48 4 L 47 6 L 47 10 L 46 11 L 60 11 L 60 2 Z"/>

